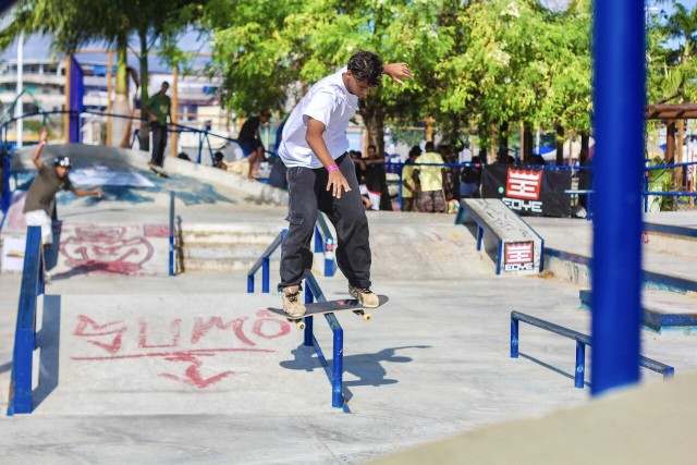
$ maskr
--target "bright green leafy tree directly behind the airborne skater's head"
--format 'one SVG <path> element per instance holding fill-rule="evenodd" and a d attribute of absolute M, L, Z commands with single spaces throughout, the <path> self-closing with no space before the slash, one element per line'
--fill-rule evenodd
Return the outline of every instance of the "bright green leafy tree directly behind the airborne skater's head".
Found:
<path fill-rule="evenodd" d="M 233 2 L 213 0 L 205 27 L 215 32 L 216 71 L 223 75 L 224 101 L 231 110 L 253 113 L 284 108 L 306 84 L 345 65 L 359 49 L 388 62 L 409 63 L 416 76 L 432 66 L 450 46 L 437 28 L 441 1 L 408 4 L 356 0 Z M 298 85 L 298 83 L 302 83 Z M 420 114 L 424 83 L 384 85 L 360 101 L 368 138 L 380 151 L 387 114 Z"/>

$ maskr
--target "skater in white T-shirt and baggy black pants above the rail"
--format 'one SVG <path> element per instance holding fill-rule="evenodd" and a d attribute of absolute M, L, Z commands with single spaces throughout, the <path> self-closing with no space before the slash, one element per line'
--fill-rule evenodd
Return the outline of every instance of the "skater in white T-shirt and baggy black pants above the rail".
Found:
<path fill-rule="evenodd" d="M 382 64 L 375 53 L 358 51 L 348 64 L 317 82 L 293 109 L 285 123 L 279 156 L 288 167 L 288 234 L 281 254 L 283 310 L 303 316 L 301 282 L 310 271 L 309 249 L 317 209 L 337 230 L 337 262 L 348 279 L 348 293 L 365 307 L 377 307 L 370 291 L 368 220 L 360 200 L 353 160 L 347 155 L 346 129 L 358 109 L 358 98 L 382 82 L 382 74 L 404 84 L 412 77 L 406 63 Z"/>

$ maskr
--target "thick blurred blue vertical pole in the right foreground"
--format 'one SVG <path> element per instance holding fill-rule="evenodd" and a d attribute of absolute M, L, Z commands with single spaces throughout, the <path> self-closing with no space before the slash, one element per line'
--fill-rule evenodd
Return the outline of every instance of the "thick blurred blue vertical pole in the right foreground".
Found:
<path fill-rule="evenodd" d="M 591 393 L 639 380 L 644 2 L 594 2 Z"/>

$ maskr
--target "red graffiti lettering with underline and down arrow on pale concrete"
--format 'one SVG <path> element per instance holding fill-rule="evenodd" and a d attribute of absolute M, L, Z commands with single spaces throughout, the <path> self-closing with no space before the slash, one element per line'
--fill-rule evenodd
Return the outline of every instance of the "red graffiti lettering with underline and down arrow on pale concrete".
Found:
<path fill-rule="evenodd" d="M 201 357 L 211 357 L 216 354 L 231 352 L 272 353 L 274 351 L 259 347 L 257 343 L 254 342 L 254 339 L 260 338 L 261 340 L 272 340 L 286 335 L 291 331 L 288 321 L 277 318 L 273 314 L 267 310 L 258 310 L 257 319 L 254 320 L 254 322 L 249 321 L 248 317 L 243 316 L 229 320 L 228 322 L 225 322 L 221 317 L 210 317 L 208 319 L 196 317 L 193 323 L 191 321 L 187 321 L 187 323 L 192 327 L 192 336 L 189 340 L 192 346 L 199 345 L 201 341 L 206 340 L 206 336 L 213 329 L 230 331 L 235 336 L 233 343 L 236 341 L 236 343 L 242 344 L 242 346 L 212 348 L 182 347 L 183 325 L 181 318 L 173 319 L 169 322 L 169 333 L 171 339 L 168 341 L 159 341 L 162 343 L 149 342 L 148 322 L 140 318 L 138 320 L 137 331 L 137 352 L 124 354 L 121 353 L 124 345 L 124 336 L 130 334 L 129 327 L 124 321 L 110 321 L 99 325 L 89 317 L 78 315 L 77 326 L 73 335 L 84 338 L 86 343 L 103 350 L 107 352 L 107 355 L 75 356 L 71 357 L 71 359 L 96 362 L 157 357 L 172 363 L 185 363 L 188 364 L 188 366 L 184 369 L 182 376 L 171 372 L 160 374 L 159 376 L 183 382 L 198 389 L 204 389 L 229 377 L 234 371 L 224 370 L 205 378 L 200 371 L 203 365 Z M 135 334 L 132 335 L 131 342 L 135 342 L 134 338 Z M 152 352 L 150 351 L 152 348 L 157 348 L 159 351 Z"/>

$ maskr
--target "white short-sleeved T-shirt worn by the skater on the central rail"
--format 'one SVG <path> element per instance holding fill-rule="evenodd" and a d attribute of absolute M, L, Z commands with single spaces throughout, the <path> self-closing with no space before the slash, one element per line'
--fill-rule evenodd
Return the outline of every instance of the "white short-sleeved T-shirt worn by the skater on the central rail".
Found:
<path fill-rule="evenodd" d="M 325 124 L 322 137 L 334 160 L 348 150 L 346 129 L 358 110 L 358 97 L 350 94 L 344 86 L 341 76 L 345 72 L 346 68 L 343 68 L 315 83 L 293 109 L 283 127 L 283 139 L 279 147 L 279 156 L 286 167 L 322 167 L 305 140 L 308 118 Z"/>

